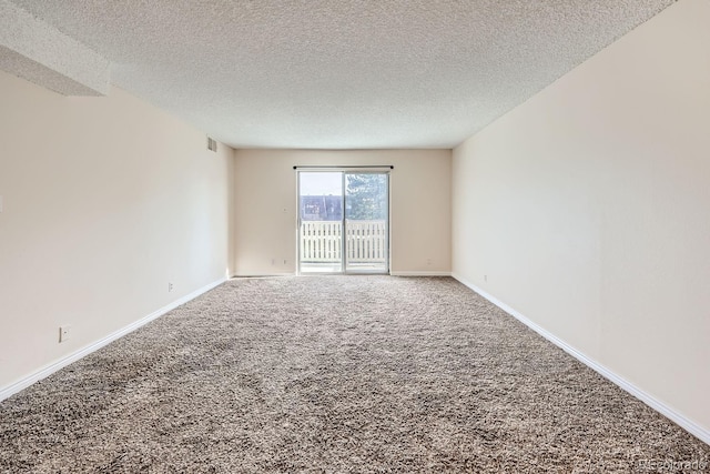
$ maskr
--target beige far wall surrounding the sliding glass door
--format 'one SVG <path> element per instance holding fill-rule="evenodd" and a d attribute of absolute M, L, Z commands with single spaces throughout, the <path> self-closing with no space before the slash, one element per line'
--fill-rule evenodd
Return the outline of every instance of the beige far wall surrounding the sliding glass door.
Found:
<path fill-rule="evenodd" d="M 450 272 L 450 150 L 236 150 L 235 158 L 237 275 L 296 271 L 294 165 L 394 165 L 392 272 Z"/>

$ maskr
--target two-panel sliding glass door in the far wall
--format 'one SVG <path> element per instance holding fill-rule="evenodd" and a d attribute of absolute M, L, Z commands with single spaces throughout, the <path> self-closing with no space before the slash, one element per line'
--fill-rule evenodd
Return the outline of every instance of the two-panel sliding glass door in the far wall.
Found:
<path fill-rule="evenodd" d="M 388 203 L 388 173 L 298 172 L 300 273 L 387 273 Z"/>

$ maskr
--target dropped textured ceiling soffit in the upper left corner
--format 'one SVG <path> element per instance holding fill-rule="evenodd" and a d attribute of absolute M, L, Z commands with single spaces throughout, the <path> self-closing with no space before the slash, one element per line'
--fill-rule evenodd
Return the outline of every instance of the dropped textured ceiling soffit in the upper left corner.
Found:
<path fill-rule="evenodd" d="M 0 0 L 0 69 L 64 95 L 105 95 L 109 61 Z"/>

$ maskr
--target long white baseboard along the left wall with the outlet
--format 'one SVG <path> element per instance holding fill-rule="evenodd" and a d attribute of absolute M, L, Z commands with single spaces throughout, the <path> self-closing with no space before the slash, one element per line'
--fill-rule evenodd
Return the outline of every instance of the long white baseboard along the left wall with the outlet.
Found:
<path fill-rule="evenodd" d="M 72 362 L 75 362 L 89 354 L 91 354 L 94 351 L 98 351 L 99 349 L 103 347 L 104 345 L 124 336 L 125 334 L 135 331 L 136 329 L 150 323 L 151 321 L 162 316 L 163 314 L 168 313 L 171 310 L 174 310 L 175 307 L 180 306 L 181 304 L 185 304 L 186 302 L 194 300 L 195 297 L 200 296 L 202 293 L 205 293 L 210 290 L 212 290 L 215 286 L 221 285 L 222 283 L 224 283 L 226 281 L 226 279 L 221 279 L 217 280 L 216 282 L 210 283 L 206 286 L 201 288 L 200 290 L 196 290 L 179 300 L 173 301 L 172 303 L 168 304 L 166 306 L 161 307 L 158 311 L 152 312 L 151 314 L 149 314 L 148 316 L 141 317 L 140 320 L 135 321 L 134 323 L 129 324 L 125 327 L 122 327 L 109 335 L 106 335 L 105 337 L 100 339 L 97 342 L 93 342 L 75 352 L 72 352 L 71 354 L 60 359 L 59 361 L 55 361 L 49 365 L 45 365 L 44 367 L 38 370 L 37 372 L 31 373 L 30 375 L 19 380 L 18 382 L 14 382 L 8 386 L 4 386 L 2 389 L 0 389 L 0 401 L 3 401 L 12 395 L 14 395 L 16 393 L 27 389 L 28 386 L 32 385 L 36 382 L 39 382 L 40 380 L 53 374 L 54 372 L 59 371 L 62 367 L 65 367 L 67 365 L 71 364 Z"/>

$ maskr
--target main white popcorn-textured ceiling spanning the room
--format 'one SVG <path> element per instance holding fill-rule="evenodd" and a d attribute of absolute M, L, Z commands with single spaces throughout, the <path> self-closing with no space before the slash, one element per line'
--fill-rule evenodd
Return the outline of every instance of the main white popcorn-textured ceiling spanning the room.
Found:
<path fill-rule="evenodd" d="M 673 0 L 12 2 L 232 147 L 372 149 L 455 147 Z"/>

